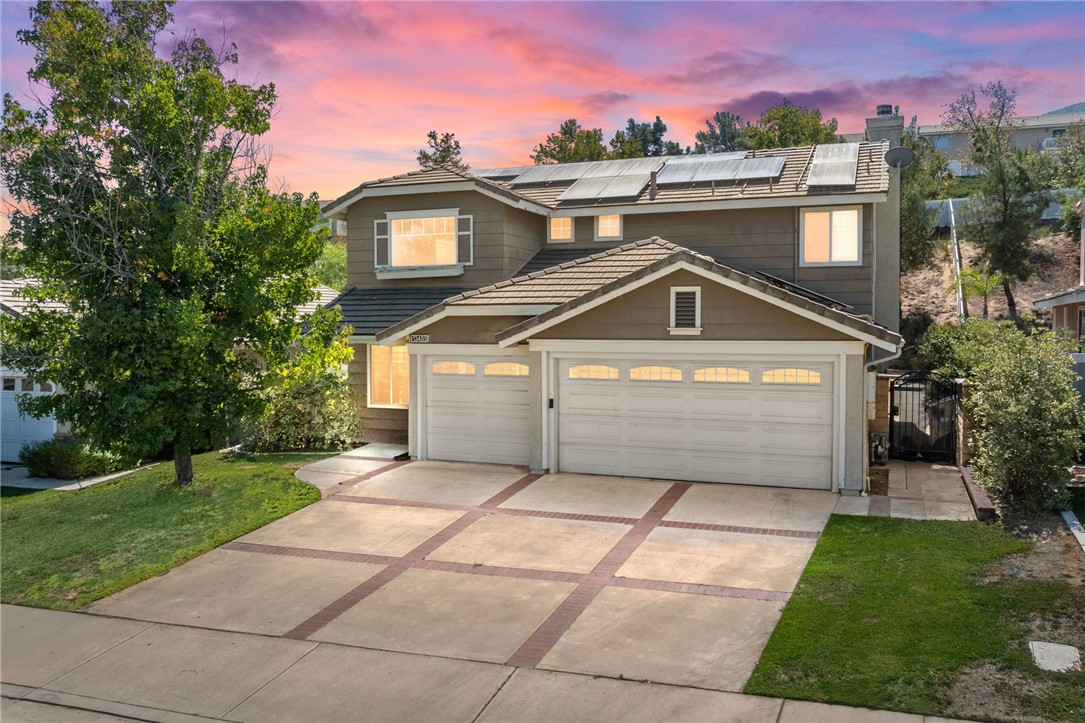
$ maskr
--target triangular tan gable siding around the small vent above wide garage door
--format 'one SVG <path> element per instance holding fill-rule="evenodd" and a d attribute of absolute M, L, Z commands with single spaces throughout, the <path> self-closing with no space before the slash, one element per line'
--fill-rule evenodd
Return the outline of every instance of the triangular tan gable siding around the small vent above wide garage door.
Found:
<path fill-rule="evenodd" d="M 676 337 L 671 288 L 701 288 L 698 337 Z M 511 326 L 511 325 L 510 325 Z M 537 339 L 644 339 L 703 341 L 850 341 L 845 334 L 690 271 L 663 279 L 539 332 Z"/>

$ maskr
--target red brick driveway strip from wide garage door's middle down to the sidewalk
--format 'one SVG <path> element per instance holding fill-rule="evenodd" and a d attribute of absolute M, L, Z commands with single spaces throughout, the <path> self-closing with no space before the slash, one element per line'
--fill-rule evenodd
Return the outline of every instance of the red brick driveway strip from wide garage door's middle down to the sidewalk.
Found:
<path fill-rule="evenodd" d="M 550 613 L 538 629 L 532 633 L 520 649 L 508 660 L 509 665 L 519 668 L 535 668 L 550 652 L 565 632 L 573 626 L 576 619 L 588 609 L 609 583 L 614 574 L 636 551 L 649 533 L 671 511 L 679 498 L 692 486 L 689 482 L 676 482 L 663 493 L 652 508 L 611 548 L 603 559 L 588 573 L 576 589 L 562 600 L 561 605 Z"/>

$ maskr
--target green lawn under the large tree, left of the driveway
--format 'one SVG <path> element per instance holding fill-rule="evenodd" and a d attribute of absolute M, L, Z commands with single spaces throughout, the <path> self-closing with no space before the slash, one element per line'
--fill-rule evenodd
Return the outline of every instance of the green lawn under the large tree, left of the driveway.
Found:
<path fill-rule="evenodd" d="M 190 560 L 320 498 L 294 478 L 330 455 L 193 457 L 194 480 L 164 462 L 75 492 L 0 502 L 0 600 L 73 610 Z"/>

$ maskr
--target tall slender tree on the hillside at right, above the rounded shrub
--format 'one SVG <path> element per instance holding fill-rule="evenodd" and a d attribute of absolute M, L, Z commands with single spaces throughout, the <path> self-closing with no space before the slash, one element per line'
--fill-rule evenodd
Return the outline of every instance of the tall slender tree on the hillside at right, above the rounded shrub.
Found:
<path fill-rule="evenodd" d="M 1048 168 L 1038 153 L 1014 145 L 1012 137 L 1017 91 L 1001 83 L 980 88 L 950 103 L 943 122 L 971 134 L 969 162 L 979 181 L 965 212 L 965 236 L 980 246 L 983 262 L 1003 275 L 1010 316 L 1017 318 L 1013 284 L 1027 281 L 1035 270 L 1032 232 L 1048 203 Z"/>

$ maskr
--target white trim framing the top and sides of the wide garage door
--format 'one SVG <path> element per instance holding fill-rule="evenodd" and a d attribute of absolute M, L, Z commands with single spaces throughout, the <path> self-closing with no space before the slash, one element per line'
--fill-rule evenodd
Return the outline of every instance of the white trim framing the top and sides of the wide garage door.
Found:
<path fill-rule="evenodd" d="M 550 344 L 548 344 L 548 346 Z M 578 343 L 575 345 L 580 348 L 587 346 L 586 344 L 583 343 Z M 617 345 L 624 346 L 625 343 L 618 342 Z M 554 399 L 554 407 L 556 407 L 553 414 L 549 416 L 548 423 L 544 428 L 547 430 L 548 432 L 547 436 L 549 437 L 547 444 L 546 458 L 549 460 L 550 469 L 553 471 L 559 471 L 560 469 L 562 469 L 560 451 L 561 447 L 563 446 L 562 444 L 563 440 L 561 439 L 559 433 L 559 430 L 561 430 L 562 428 L 561 423 L 562 404 L 563 404 L 562 399 L 564 398 L 562 395 L 562 382 L 566 381 L 564 379 L 565 370 L 567 369 L 567 364 L 573 360 L 588 360 L 592 363 L 605 363 L 610 360 L 613 363 L 617 363 L 622 370 L 621 371 L 622 378 L 620 380 L 620 385 L 626 385 L 626 386 L 630 384 L 640 383 L 640 382 L 627 381 L 628 369 L 630 367 L 630 364 L 633 363 L 636 364 L 655 363 L 655 364 L 684 367 L 686 369 L 686 378 L 684 382 L 678 384 L 678 388 L 685 386 L 687 388 L 687 392 L 689 391 L 688 388 L 692 385 L 689 375 L 691 373 L 692 368 L 695 365 L 704 365 L 706 363 L 713 365 L 717 365 L 718 363 L 718 366 L 744 365 L 745 367 L 751 369 L 751 373 L 760 373 L 760 369 L 764 366 L 779 365 L 779 366 L 795 367 L 795 366 L 802 366 L 803 364 L 808 364 L 818 366 L 824 370 L 825 373 L 822 379 L 822 389 L 825 386 L 831 386 L 831 389 L 827 392 L 828 399 L 824 401 L 821 403 L 822 406 L 820 407 L 821 413 L 829 415 L 831 418 L 831 420 L 827 421 L 825 424 L 827 428 L 831 429 L 831 432 L 827 430 L 831 439 L 824 440 L 824 442 L 826 443 L 827 452 L 829 453 L 828 454 L 829 472 L 826 478 L 822 478 L 825 479 L 825 484 L 819 486 L 821 489 L 833 489 L 833 487 L 839 489 L 843 479 L 843 469 L 842 469 L 842 460 L 844 458 L 843 420 L 844 420 L 844 399 L 846 398 L 846 389 L 845 389 L 845 381 L 843 373 L 845 368 L 845 355 L 839 352 L 843 352 L 845 350 L 844 345 L 839 343 L 834 344 L 833 346 L 830 346 L 829 344 L 826 343 L 817 344 L 818 348 L 816 351 L 826 352 L 829 351 L 830 348 L 833 348 L 833 351 L 838 352 L 837 354 L 825 354 L 825 353 L 781 354 L 778 353 L 780 345 L 776 343 L 761 343 L 757 345 L 742 344 L 743 351 L 761 350 L 762 352 L 764 352 L 766 346 L 777 347 L 776 350 L 774 350 L 777 353 L 727 354 L 717 352 L 713 354 L 705 354 L 705 353 L 694 354 L 689 352 L 690 348 L 689 346 L 685 347 L 686 353 L 681 353 L 679 350 L 675 348 L 673 352 L 666 355 L 634 354 L 628 352 L 625 353 L 613 352 L 613 353 L 602 354 L 599 353 L 599 351 L 596 351 L 596 353 L 593 354 L 586 354 L 579 350 L 577 350 L 576 352 L 556 350 L 552 352 L 545 353 L 545 357 L 548 357 L 546 363 L 546 368 L 548 373 L 544 379 L 544 382 L 546 383 L 549 390 L 552 390 L 546 396 L 549 396 Z M 803 344 L 802 346 L 803 348 L 807 347 L 806 344 Z M 851 345 L 848 344 L 848 347 L 850 346 Z M 790 346 L 790 348 L 792 350 L 794 347 L 795 347 L 794 344 Z M 595 348 L 599 350 L 598 346 L 595 346 Z M 702 348 L 705 352 L 709 351 L 709 347 L 702 346 Z M 719 348 L 719 345 L 714 344 L 711 348 L 715 351 L 716 348 Z M 698 352 L 700 351 L 701 350 L 698 350 Z M 853 350 L 846 348 L 846 351 L 853 351 Z M 653 382 L 647 382 L 647 383 L 653 383 Z M 671 386 L 672 389 L 674 389 L 675 386 L 675 384 L 671 382 L 654 382 L 654 383 L 659 383 L 661 390 L 665 386 Z M 570 383 L 566 382 L 566 389 L 569 386 Z M 751 386 L 756 386 L 756 384 L 753 384 Z M 544 396 L 544 398 L 546 398 L 546 396 Z M 566 465 L 566 469 L 567 467 L 569 466 Z M 687 475 L 679 474 L 678 477 L 689 478 L 688 474 Z M 693 474 L 692 477 L 695 478 L 698 475 Z M 700 479 L 705 479 L 705 477 L 706 475 L 702 474 Z"/>

